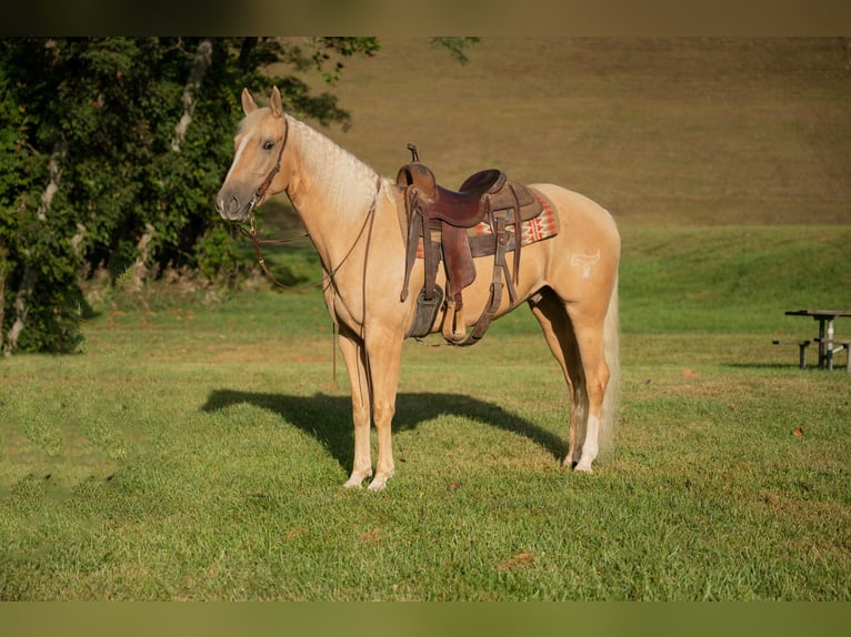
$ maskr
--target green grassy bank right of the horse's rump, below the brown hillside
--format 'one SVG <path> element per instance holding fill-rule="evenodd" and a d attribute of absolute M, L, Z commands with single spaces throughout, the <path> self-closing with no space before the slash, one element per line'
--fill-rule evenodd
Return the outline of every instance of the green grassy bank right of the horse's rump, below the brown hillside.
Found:
<path fill-rule="evenodd" d="M 622 233 L 630 331 L 807 335 L 810 320 L 783 311 L 851 303 L 850 226 L 627 226 Z"/>

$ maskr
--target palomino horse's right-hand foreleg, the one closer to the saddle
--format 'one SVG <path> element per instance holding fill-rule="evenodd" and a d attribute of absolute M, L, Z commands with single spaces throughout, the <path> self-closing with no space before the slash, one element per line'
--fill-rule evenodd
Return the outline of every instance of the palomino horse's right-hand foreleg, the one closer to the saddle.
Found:
<path fill-rule="evenodd" d="M 382 333 L 367 342 L 369 374 L 372 381 L 372 417 L 378 433 L 378 464 L 369 491 L 380 491 L 393 476 L 392 423 L 402 358 L 402 338 Z"/>

